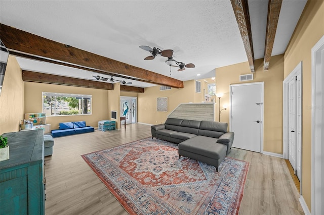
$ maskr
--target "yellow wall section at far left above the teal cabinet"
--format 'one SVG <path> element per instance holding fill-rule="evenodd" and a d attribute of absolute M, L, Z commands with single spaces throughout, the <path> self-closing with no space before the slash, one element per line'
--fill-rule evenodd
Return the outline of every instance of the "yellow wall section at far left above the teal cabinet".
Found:
<path fill-rule="evenodd" d="M 24 82 L 15 57 L 9 56 L 0 94 L 0 134 L 19 131 L 24 115 Z"/>

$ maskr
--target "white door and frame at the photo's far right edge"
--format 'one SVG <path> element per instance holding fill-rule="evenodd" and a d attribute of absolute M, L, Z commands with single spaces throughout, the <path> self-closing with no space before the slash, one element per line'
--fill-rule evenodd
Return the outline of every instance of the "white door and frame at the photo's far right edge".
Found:
<path fill-rule="evenodd" d="M 312 100 L 311 100 L 311 214 L 322 214 L 324 206 L 324 173 L 321 165 L 324 161 L 322 136 L 324 133 L 323 126 L 323 110 L 324 110 L 324 89 L 321 83 L 323 80 L 323 64 L 318 61 L 318 53 L 324 55 L 324 36 L 322 36 L 311 50 L 311 85 L 312 85 Z M 321 56 L 323 59 L 323 57 Z"/>

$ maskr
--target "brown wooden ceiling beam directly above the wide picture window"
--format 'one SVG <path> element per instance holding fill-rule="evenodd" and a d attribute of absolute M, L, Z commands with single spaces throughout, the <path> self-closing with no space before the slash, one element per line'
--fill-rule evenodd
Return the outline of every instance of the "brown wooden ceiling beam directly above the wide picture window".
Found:
<path fill-rule="evenodd" d="M 59 85 L 67 85 L 67 86 L 113 90 L 113 84 L 111 83 L 90 81 L 85 79 L 45 74 L 40 72 L 32 72 L 27 70 L 22 71 L 22 80 L 29 81 L 29 82 L 37 82 L 37 83 L 59 84 Z"/>

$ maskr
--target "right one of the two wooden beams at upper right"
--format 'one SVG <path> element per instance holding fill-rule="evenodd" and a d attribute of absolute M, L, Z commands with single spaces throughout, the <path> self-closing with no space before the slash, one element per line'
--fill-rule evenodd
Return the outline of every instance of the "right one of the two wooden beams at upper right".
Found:
<path fill-rule="evenodd" d="M 274 43 L 275 32 L 277 30 L 279 14 L 281 10 L 282 0 L 269 0 L 267 31 L 264 48 L 264 71 L 269 69 L 271 53 Z"/>

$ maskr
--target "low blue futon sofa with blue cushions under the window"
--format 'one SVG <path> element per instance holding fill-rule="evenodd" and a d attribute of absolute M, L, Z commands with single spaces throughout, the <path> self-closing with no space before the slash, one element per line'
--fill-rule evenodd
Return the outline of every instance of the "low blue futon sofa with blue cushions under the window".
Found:
<path fill-rule="evenodd" d="M 86 121 L 60 123 L 60 129 L 52 130 L 53 137 L 94 132 L 95 128 L 86 125 Z"/>

